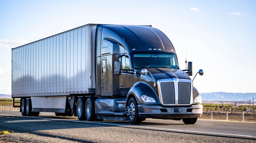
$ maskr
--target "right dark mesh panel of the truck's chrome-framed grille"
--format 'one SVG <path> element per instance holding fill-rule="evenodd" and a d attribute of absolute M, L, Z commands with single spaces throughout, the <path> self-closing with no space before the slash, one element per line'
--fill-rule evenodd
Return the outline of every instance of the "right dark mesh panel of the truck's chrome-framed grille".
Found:
<path fill-rule="evenodd" d="M 179 82 L 178 83 L 178 95 L 179 104 L 189 104 L 190 103 L 190 83 Z"/>

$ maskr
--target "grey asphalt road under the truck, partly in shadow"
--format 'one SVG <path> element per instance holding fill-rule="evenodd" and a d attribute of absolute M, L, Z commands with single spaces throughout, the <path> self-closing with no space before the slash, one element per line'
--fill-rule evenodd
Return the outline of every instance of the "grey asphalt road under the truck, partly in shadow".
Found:
<path fill-rule="evenodd" d="M 79 121 L 40 113 L 23 117 L 18 111 L 0 110 L 0 130 L 14 133 L 0 142 L 256 142 L 256 123 L 198 120 L 146 119 L 140 125 L 128 121 Z"/>

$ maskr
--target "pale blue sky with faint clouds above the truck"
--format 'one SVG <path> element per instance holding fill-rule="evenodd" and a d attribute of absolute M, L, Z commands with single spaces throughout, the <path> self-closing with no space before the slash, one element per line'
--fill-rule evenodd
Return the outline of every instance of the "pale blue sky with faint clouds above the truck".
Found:
<path fill-rule="evenodd" d="M 193 62 L 200 93 L 256 92 L 255 0 L 0 0 L 0 94 L 11 94 L 11 48 L 85 24 L 152 25 Z"/>

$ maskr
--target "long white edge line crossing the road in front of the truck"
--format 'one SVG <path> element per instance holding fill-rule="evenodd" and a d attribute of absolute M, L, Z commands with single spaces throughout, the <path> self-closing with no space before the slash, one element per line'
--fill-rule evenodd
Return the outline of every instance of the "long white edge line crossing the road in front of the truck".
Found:
<path fill-rule="evenodd" d="M 1 114 L 0 114 L 1 116 Z M 3 115 L 3 116 L 14 116 L 14 115 Z M 61 120 L 61 121 L 70 121 L 70 122 L 83 122 L 83 123 L 95 123 L 103 125 L 115 125 L 115 126 L 126 126 L 126 127 L 138 127 L 146 129 L 159 129 L 159 130 L 169 130 L 169 131 L 179 131 L 179 132 L 191 132 L 191 133 L 207 133 L 213 135 L 233 135 L 233 136 L 243 136 L 243 137 L 256 137 L 251 135 L 237 135 L 237 134 L 224 134 L 224 133 L 214 133 L 214 132 L 203 132 L 203 131 L 189 131 L 189 130 L 178 130 L 178 129 L 166 129 L 166 128 L 153 128 L 153 127 L 143 127 L 143 126 L 133 126 L 133 125 L 122 125 L 122 124 L 111 124 L 111 123 L 101 123 L 101 122 L 90 122 L 90 121 L 80 121 L 80 120 L 64 120 L 64 119 L 51 119 L 51 118 L 42 118 L 42 117 L 28 117 L 28 116 L 16 116 L 16 117 L 25 117 L 25 118 L 37 118 L 37 119 L 48 119 L 48 120 Z"/>

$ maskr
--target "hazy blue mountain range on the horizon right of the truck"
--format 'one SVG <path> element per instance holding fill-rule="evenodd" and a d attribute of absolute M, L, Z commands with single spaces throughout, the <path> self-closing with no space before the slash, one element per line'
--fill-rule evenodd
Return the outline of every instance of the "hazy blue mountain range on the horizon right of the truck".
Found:
<path fill-rule="evenodd" d="M 227 92 L 211 92 L 200 93 L 203 101 L 244 101 L 254 98 L 256 101 L 256 93 L 227 93 Z"/>

